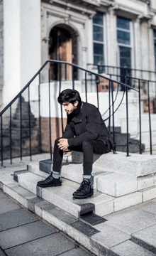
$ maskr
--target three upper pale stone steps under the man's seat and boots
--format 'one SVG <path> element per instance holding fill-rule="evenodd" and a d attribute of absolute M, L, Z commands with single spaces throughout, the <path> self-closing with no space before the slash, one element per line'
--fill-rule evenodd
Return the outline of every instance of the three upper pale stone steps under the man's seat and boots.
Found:
<path fill-rule="evenodd" d="M 72 198 L 72 193 L 82 182 L 82 153 L 72 152 L 72 161 L 76 164 L 67 163 L 62 166 L 61 187 L 36 186 L 38 181 L 47 178 L 51 172 L 48 161 L 44 161 L 45 166 L 43 161 L 40 164 L 29 164 L 27 171 L 15 172 L 14 179 L 18 181 L 19 186 L 76 218 L 81 215 L 80 205 L 84 203 L 92 203 L 94 213 L 104 216 L 156 197 L 155 156 L 133 154 L 126 157 L 126 154 L 121 152 L 114 155 L 110 152 L 100 157 L 95 154 L 92 172 L 94 197 L 85 200 Z"/>

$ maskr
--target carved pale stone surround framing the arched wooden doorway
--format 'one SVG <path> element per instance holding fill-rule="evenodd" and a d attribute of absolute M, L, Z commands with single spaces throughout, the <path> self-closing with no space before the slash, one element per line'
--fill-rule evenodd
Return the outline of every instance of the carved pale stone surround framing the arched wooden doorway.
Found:
<path fill-rule="evenodd" d="M 93 16 L 96 12 L 90 11 Z M 53 6 L 52 4 L 42 3 L 42 24 L 41 24 L 41 38 L 42 38 L 42 63 L 48 60 L 48 38 L 51 29 L 58 24 L 66 24 L 77 32 L 77 65 L 86 68 L 88 59 L 92 63 L 92 21 L 86 14 L 79 14 L 77 12 L 63 9 L 61 7 Z M 47 41 L 46 41 L 47 38 Z M 89 52 L 89 47 L 91 52 Z"/>

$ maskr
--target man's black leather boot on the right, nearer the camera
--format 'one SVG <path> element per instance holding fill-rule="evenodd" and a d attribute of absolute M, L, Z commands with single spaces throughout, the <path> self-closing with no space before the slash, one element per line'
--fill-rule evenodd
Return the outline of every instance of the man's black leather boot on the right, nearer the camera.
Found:
<path fill-rule="evenodd" d="M 94 194 L 93 188 L 91 188 L 91 181 L 82 181 L 81 186 L 73 193 L 73 197 L 77 199 L 84 199 Z"/>

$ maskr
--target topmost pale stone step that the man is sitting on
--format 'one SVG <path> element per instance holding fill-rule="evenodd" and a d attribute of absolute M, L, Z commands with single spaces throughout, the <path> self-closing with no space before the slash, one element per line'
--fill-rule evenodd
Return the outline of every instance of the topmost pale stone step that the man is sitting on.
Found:
<path fill-rule="evenodd" d="M 82 152 L 72 151 L 72 161 L 82 163 Z M 94 154 L 93 166 L 104 167 L 106 171 L 117 172 L 133 177 L 155 174 L 156 156 L 145 154 L 133 154 L 126 156 L 126 153 L 117 151 L 116 154 Z"/>

